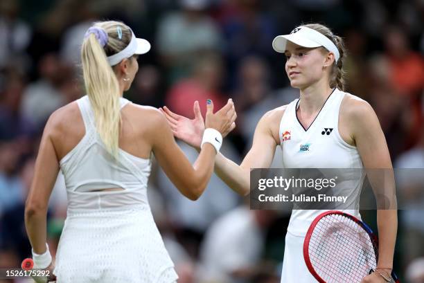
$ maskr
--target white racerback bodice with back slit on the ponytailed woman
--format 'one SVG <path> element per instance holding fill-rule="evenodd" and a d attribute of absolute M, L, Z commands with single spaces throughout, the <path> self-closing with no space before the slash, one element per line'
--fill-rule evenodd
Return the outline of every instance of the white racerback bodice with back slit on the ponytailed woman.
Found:
<path fill-rule="evenodd" d="M 129 100 L 120 98 L 121 109 Z M 60 161 L 67 187 L 69 210 L 148 207 L 147 183 L 150 159 L 133 156 L 118 149 L 118 161 L 107 152 L 96 130 L 94 112 L 87 95 L 77 100 L 85 136 Z M 94 192 L 107 188 L 123 188 Z"/>

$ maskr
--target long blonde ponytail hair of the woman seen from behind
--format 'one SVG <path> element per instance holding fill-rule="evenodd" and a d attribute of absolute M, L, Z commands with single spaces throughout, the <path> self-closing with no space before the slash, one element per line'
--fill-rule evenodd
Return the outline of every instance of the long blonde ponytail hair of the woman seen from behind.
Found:
<path fill-rule="evenodd" d="M 107 151 L 115 158 L 118 154 L 121 129 L 121 97 L 118 79 L 107 62 L 107 53 L 117 53 L 130 42 L 131 32 L 117 21 L 105 21 L 95 26 L 103 28 L 109 36 L 105 47 L 100 46 L 96 35 L 89 34 L 81 48 L 82 73 L 85 90 L 94 110 L 96 129 Z M 116 26 L 122 28 L 125 38 L 117 39 Z"/>

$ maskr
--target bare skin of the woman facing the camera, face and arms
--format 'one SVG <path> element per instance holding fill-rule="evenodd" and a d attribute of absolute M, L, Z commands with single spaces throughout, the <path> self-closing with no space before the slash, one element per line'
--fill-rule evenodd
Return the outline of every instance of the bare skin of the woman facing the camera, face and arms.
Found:
<path fill-rule="evenodd" d="M 300 89 L 299 121 L 308 129 L 322 105 L 332 92 L 329 86 L 329 66 L 335 60 L 333 53 L 324 48 L 303 48 L 287 43 L 285 71 L 292 87 Z M 256 126 L 251 149 L 240 165 L 222 154 L 215 157 L 215 173 L 241 195 L 249 194 L 250 171 L 268 168 L 280 144 L 279 126 L 286 106 L 265 113 Z M 173 134 L 188 145 L 199 148 L 204 123 L 195 104 L 195 118 L 189 120 L 167 107 L 161 109 L 173 129 Z M 346 95 L 339 112 L 339 133 L 349 145 L 357 147 L 364 168 L 392 168 L 389 149 L 380 122 L 368 102 Z M 378 210 L 379 271 L 387 274 L 393 268 L 394 246 L 398 226 L 397 210 Z M 362 283 L 385 283 L 377 273 L 364 277 Z"/>

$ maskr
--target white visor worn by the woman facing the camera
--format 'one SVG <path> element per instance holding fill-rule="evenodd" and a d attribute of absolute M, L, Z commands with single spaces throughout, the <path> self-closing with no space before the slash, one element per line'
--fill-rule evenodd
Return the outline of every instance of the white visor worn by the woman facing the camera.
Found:
<path fill-rule="evenodd" d="M 339 61 L 340 53 L 335 44 L 328 37 L 317 32 L 317 30 L 312 30 L 312 28 L 299 26 L 294 28 L 290 35 L 279 35 L 272 41 L 272 47 L 276 52 L 284 53 L 288 41 L 306 48 L 323 46 L 334 54 L 336 62 Z"/>

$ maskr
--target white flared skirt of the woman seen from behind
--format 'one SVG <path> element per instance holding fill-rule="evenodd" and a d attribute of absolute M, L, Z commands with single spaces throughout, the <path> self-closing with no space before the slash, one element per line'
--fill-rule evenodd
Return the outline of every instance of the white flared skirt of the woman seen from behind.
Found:
<path fill-rule="evenodd" d="M 178 279 L 150 208 L 70 212 L 56 254 L 57 283 L 171 283 Z"/>

